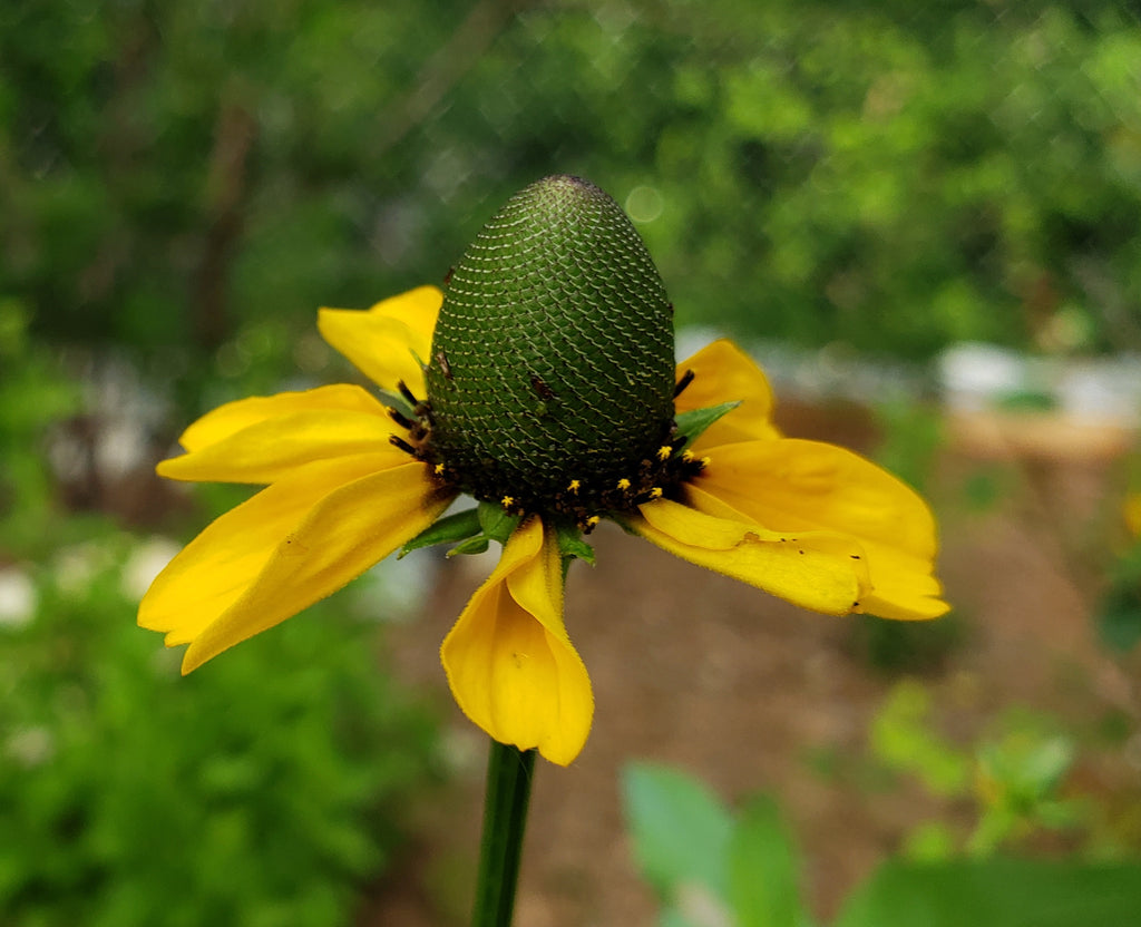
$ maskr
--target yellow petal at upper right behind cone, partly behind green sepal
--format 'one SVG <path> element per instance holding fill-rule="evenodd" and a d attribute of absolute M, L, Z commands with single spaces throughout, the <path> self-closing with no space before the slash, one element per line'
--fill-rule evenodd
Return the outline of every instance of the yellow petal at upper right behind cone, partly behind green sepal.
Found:
<path fill-rule="evenodd" d="M 679 412 L 741 402 L 736 409 L 713 422 L 694 443 L 696 450 L 780 436 L 772 425 L 772 390 L 761 369 L 733 341 L 725 338 L 698 350 L 678 364 L 678 379 L 687 370 L 694 379 L 674 401 Z"/>

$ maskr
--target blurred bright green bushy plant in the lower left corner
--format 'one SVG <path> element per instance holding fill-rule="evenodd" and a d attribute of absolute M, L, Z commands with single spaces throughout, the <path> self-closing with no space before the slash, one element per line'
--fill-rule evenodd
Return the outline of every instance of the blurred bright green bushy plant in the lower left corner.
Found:
<path fill-rule="evenodd" d="M 431 781 L 430 718 L 338 604 L 181 678 L 130 620 L 153 543 L 60 548 L 0 626 L 0 920 L 351 922 Z"/>

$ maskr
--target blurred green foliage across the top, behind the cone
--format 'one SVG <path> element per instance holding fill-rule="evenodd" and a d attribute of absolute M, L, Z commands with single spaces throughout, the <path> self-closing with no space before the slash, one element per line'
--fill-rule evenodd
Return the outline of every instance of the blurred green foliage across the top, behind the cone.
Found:
<path fill-rule="evenodd" d="M 0 9 L 0 296 L 183 378 L 439 280 L 557 171 L 625 205 L 682 322 L 1136 345 L 1139 163 L 1111 0 Z"/>

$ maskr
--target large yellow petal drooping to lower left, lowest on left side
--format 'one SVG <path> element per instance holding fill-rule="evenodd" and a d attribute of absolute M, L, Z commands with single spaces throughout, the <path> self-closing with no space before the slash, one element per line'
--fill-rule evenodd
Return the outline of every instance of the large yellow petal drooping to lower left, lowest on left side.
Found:
<path fill-rule="evenodd" d="M 420 462 L 318 461 L 222 515 L 154 581 L 139 624 L 189 643 L 183 671 L 337 591 L 447 507 Z"/>

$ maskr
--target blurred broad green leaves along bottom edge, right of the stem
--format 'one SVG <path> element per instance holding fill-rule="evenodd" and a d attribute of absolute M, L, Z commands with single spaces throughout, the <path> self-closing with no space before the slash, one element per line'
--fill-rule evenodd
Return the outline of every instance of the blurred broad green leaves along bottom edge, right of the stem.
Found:
<path fill-rule="evenodd" d="M 738 813 L 677 769 L 623 776 L 633 853 L 662 902 L 662 927 L 811 927 L 801 860 L 770 798 Z M 1086 927 L 1133 924 L 1141 864 L 890 860 L 842 903 L 831 927 Z"/>

